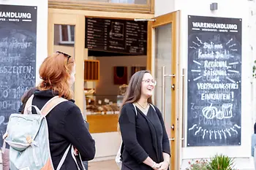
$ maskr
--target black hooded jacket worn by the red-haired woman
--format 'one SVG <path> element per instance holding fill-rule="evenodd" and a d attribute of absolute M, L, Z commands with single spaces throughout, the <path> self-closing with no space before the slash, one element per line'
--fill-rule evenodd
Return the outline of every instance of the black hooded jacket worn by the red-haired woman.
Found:
<path fill-rule="evenodd" d="M 36 90 L 32 104 L 39 109 L 50 98 L 56 96 L 51 90 Z M 57 168 L 69 144 L 75 146 L 80 152 L 82 161 L 89 161 L 95 155 L 95 142 L 86 128 L 86 123 L 75 101 L 64 101 L 54 107 L 46 116 L 49 131 L 50 155 L 54 169 Z M 34 110 L 34 109 L 33 109 Z M 35 113 L 35 110 L 34 112 Z M 76 158 L 77 161 L 79 160 Z M 78 166 L 82 166 L 78 161 Z M 68 153 L 61 170 L 76 170 L 78 167 L 71 152 Z"/>

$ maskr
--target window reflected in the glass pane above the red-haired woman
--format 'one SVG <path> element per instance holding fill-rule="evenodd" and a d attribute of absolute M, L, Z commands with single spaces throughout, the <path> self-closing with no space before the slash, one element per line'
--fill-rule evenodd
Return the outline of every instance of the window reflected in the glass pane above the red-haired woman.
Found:
<path fill-rule="evenodd" d="M 75 43 L 75 26 L 59 25 L 59 44 L 73 45 Z"/>

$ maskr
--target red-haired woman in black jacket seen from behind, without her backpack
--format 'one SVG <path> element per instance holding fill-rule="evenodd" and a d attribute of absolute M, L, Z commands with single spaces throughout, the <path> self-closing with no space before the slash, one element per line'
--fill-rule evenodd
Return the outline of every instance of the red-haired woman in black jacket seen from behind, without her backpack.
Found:
<path fill-rule="evenodd" d="M 56 106 L 46 116 L 54 169 L 57 168 L 69 144 L 78 150 L 82 161 L 92 160 L 95 155 L 95 142 L 86 128 L 80 109 L 72 99 L 72 85 L 75 82 L 74 58 L 65 53 L 56 52 L 45 58 L 39 68 L 39 75 L 42 82 L 34 92 L 33 105 L 42 109 L 54 96 L 61 96 L 68 100 Z M 74 159 L 71 152 L 61 166 L 61 170 L 70 169 L 83 169 L 80 159 Z"/>

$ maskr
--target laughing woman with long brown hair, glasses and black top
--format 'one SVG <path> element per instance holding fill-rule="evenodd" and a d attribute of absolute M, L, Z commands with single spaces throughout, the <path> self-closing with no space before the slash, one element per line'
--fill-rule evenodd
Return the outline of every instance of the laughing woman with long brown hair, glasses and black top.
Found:
<path fill-rule="evenodd" d="M 170 143 L 159 109 L 151 104 L 156 81 L 148 71 L 132 75 L 119 116 L 122 170 L 166 170 Z M 137 113 L 136 113 L 137 112 Z"/>

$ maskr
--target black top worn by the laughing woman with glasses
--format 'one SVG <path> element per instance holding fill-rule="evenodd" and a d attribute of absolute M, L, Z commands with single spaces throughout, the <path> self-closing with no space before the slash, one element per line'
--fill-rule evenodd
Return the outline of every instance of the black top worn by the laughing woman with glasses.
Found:
<path fill-rule="evenodd" d="M 156 109 L 156 111 L 154 110 Z M 132 104 L 124 104 L 119 117 L 123 150 L 121 150 L 122 169 L 151 170 L 143 161 L 149 156 L 156 163 L 164 161 L 163 152 L 170 155 L 170 143 L 165 130 L 162 114 L 157 107 L 149 107 L 144 115 Z"/>

